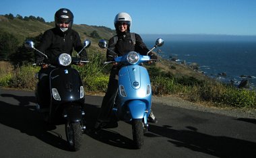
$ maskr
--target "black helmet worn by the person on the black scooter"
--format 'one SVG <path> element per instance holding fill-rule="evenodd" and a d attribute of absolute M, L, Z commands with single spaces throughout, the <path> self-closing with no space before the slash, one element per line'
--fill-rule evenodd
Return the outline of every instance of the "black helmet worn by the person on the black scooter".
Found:
<path fill-rule="evenodd" d="M 55 26 L 59 27 L 57 24 L 65 22 L 69 24 L 69 28 L 71 29 L 73 24 L 73 17 L 73 13 L 69 9 L 61 8 L 55 13 Z"/>

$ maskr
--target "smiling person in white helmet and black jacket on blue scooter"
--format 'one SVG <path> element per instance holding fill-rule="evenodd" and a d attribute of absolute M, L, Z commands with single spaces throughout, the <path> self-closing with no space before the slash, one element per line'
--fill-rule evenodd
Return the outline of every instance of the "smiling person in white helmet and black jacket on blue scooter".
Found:
<path fill-rule="evenodd" d="M 117 35 L 113 38 L 110 38 L 108 41 L 108 49 L 116 52 L 117 56 L 123 56 L 124 54 L 127 54 L 127 52 L 131 51 L 139 52 L 142 55 L 147 54 L 149 49 L 142 41 L 139 34 L 130 33 L 131 17 L 128 13 L 118 13 L 115 17 L 114 24 Z M 132 34 L 134 36 L 132 36 Z M 115 58 L 115 54 L 110 50 L 107 50 L 106 52 L 107 61 L 113 61 Z M 157 59 L 157 56 L 154 55 L 154 53 L 150 52 L 149 55 L 151 58 Z M 96 131 L 100 130 L 106 126 L 108 122 L 110 122 L 110 115 L 115 102 L 115 97 L 117 95 L 119 69 L 121 69 L 120 65 L 113 65 L 111 69 L 108 81 L 108 89 L 102 101 L 98 120 L 94 126 L 94 130 Z M 148 122 L 157 122 L 153 112 L 150 113 Z"/>

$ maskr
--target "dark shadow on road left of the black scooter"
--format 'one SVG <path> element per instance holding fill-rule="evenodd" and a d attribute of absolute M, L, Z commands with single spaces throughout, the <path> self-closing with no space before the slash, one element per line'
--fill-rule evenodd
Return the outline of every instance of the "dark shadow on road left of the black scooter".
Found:
<path fill-rule="evenodd" d="M 63 140 L 61 134 L 54 131 L 56 126 L 46 124 L 38 112 L 34 111 L 35 106 L 31 106 L 30 102 L 35 102 L 33 96 L 18 96 L 11 94 L 1 94 L 1 97 L 13 97 L 18 100 L 19 105 L 12 105 L 0 101 L 0 123 L 11 128 L 20 130 L 30 136 L 35 136 L 44 143 L 69 151 L 67 142 Z"/>

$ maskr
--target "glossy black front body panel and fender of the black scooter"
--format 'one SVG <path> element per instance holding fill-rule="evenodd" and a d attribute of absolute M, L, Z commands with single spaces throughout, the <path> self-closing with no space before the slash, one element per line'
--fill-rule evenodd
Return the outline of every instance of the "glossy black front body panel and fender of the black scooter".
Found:
<path fill-rule="evenodd" d="M 61 100 L 55 100 L 51 90 L 50 120 L 65 116 L 70 122 L 81 121 L 85 97 L 80 98 L 80 86 L 83 85 L 78 71 L 71 67 L 57 67 L 49 77 L 51 89 L 57 89 L 61 97 Z"/>

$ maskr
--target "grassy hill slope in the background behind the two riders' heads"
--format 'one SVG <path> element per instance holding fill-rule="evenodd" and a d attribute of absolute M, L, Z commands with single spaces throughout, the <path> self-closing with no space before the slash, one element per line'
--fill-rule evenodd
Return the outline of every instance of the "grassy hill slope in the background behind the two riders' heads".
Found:
<path fill-rule="evenodd" d="M 23 19 L 7 19 L 3 15 L 0 15 L 0 30 L 13 34 L 18 38 L 20 44 L 22 44 L 27 37 L 38 36 L 38 34 L 55 27 L 54 22 L 39 22 L 37 20 L 25 21 Z M 90 39 L 94 42 L 93 45 L 97 44 L 98 39 L 90 37 L 93 31 L 96 31 L 101 38 L 108 40 L 110 37 L 115 35 L 115 30 L 106 28 L 104 26 L 88 26 L 86 24 L 77 25 L 73 24 L 73 30 L 77 31 L 81 40 Z"/>

